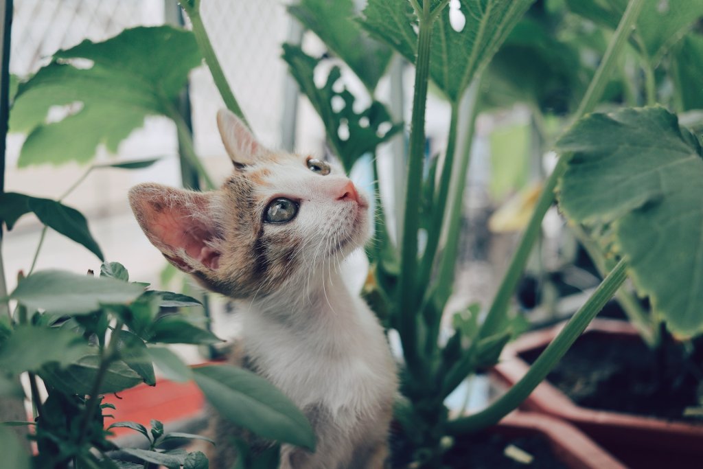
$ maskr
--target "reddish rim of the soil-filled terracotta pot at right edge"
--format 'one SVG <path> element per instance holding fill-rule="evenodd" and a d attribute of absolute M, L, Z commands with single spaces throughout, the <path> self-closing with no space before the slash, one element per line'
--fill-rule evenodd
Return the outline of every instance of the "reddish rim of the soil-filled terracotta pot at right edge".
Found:
<path fill-rule="evenodd" d="M 505 347 L 501 355 L 501 363 L 496 365 L 491 373 L 504 383 L 514 385 L 529 370 L 529 365 L 518 354 L 545 347 L 555 338 L 563 326 L 564 323 L 561 323 L 552 328 L 522 335 Z M 636 330 L 624 321 L 596 319 L 591 322 L 587 330 L 616 335 L 628 340 L 638 338 Z M 692 444 L 692 440 L 695 440 L 698 446 L 703 446 L 703 425 L 586 409 L 574 404 L 566 394 L 557 390 L 546 380 L 536 387 L 524 401 L 522 408 L 563 418 L 587 432 L 590 432 L 589 429 L 600 428 L 602 430 L 607 428 L 613 436 L 617 435 L 619 438 L 632 438 L 640 443 L 652 442 L 654 444 L 659 443 L 662 434 L 669 434 L 673 436 L 671 446 L 690 449 L 688 445 Z"/>

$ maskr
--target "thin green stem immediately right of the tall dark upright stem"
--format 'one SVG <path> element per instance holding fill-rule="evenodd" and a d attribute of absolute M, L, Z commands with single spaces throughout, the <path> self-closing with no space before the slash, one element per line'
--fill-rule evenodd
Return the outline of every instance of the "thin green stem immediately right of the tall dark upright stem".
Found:
<path fill-rule="evenodd" d="M 439 236 L 444 226 L 444 212 L 446 210 L 446 200 L 449 195 L 449 183 L 454 165 L 454 153 L 456 153 L 456 126 L 459 120 L 459 103 L 451 103 L 451 120 L 449 121 L 449 136 L 446 140 L 446 153 L 444 163 L 439 178 L 439 191 L 432 200 L 432 221 L 430 229 L 427 231 L 427 244 L 422 263 L 420 264 L 420 274 L 418 285 L 427 285 L 432 275 L 432 266 L 437 257 L 437 247 L 439 246 Z M 434 181 L 430 181 L 434 184 Z"/>

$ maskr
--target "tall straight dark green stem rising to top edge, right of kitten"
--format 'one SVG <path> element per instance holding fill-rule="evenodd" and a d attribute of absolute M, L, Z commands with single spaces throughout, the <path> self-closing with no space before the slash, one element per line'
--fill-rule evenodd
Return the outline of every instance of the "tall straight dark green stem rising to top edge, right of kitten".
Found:
<path fill-rule="evenodd" d="M 418 226 L 420 212 L 418 195 L 423 176 L 425 155 L 425 106 L 427 105 L 427 81 L 430 74 L 430 42 L 432 23 L 429 21 L 430 2 L 423 3 L 418 33 L 418 59 L 415 64 L 415 91 L 411 118 L 410 149 L 408 156 L 408 180 L 406 205 L 401 242 L 401 274 L 399 278 L 399 328 L 406 365 L 411 373 L 420 376 L 420 354 L 418 353 L 417 309 L 417 264 Z"/>

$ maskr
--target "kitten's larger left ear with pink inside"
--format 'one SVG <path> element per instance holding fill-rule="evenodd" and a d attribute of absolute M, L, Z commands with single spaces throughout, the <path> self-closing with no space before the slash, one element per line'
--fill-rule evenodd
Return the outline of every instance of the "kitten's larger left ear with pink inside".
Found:
<path fill-rule="evenodd" d="M 188 274 L 212 273 L 219 267 L 214 193 L 139 184 L 129 190 L 129 205 L 146 234 L 174 266 Z"/>

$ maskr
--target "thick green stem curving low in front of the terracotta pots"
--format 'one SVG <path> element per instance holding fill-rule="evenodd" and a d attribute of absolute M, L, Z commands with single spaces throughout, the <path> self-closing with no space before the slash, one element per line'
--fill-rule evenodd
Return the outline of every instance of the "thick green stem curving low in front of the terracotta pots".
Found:
<path fill-rule="evenodd" d="M 516 409 L 535 387 L 546 378 L 547 374 L 564 356 L 574 341 L 586 329 L 598 311 L 612 298 L 620 285 L 627 278 L 627 264 L 624 260 L 618 262 L 610 274 L 600 283 L 595 293 L 588 298 L 586 304 L 576 311 L 576 314 L 564 326 L 562 331 L 541 353 L 520 381 L 508 390 L 494 404 L 472 416 L 460 417 L 447 424 L 449 435 L 461 435 L 467 432 L 482 430 L 497 423 L 512 410 Z"/>

